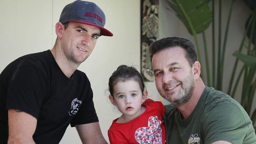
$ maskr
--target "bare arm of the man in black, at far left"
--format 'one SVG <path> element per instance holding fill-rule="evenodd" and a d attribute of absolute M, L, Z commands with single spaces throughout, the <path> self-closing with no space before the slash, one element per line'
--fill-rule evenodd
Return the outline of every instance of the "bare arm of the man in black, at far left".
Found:
<path fill-rule="evenodd" d="M 8 144 L 35 144 L 33 134 L 37 119 L 17 109 L 8 109 Z"/>

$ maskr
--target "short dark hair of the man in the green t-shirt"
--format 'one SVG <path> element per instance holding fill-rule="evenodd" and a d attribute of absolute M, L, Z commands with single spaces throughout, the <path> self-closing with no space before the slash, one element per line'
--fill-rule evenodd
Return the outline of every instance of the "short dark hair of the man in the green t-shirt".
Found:
<path fill-rule="evenodd" d="M 195 61 L 197 61 L 197 53 L 196 53 L 194 44 L 187 39 L 183 39 L 179 37 L 167 37 L 152 43 L 151 46 L 149 47 L 151 61 L 152 61 L 153 55 L 156 54 L 157 52 L 160 52 L 161 50 L 165 50 L 167 48 L 173 48 L 173 47 L 180 47 L 185 50 L 186 59 L 189 62 L 189 65 L 191 67 L 193 66 Z"/>

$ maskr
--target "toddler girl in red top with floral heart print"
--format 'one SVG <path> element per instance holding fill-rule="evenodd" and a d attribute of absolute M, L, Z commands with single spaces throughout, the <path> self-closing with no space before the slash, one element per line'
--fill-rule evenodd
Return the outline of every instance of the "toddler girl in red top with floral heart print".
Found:
<path fill-rule="evenodd" d="M 110 144 L 164 144 L 164 107 L 147 99 L 141 74 L 132 66 L 121 65 L 108 85 L 109 100 L 122 113 L 108 130 Z"/>

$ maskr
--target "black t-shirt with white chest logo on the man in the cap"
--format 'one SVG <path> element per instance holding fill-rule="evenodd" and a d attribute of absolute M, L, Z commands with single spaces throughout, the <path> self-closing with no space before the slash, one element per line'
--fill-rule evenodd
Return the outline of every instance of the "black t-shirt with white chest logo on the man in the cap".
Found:
<path fill-rule="evenodd" d="M 89 79 L 79 70 L 67 78 L 50 50 L 22 56 L 0 74 L 1 142 L 8 137 L 7 109 L 37 118 L 37 144 L 59 143 L 69 124 L 98 122 Z"/>

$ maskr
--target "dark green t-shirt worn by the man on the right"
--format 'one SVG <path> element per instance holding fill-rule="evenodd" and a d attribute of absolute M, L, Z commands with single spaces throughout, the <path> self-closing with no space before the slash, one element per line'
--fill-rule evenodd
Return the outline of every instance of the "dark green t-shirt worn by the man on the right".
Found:
<path fill-rule="evenodd" d="M 256 144 L 248 114 L 227 94 L 205 87 L 194 111 L 182 120 L 174 105 L 165 105 L 167 144 L 211 144 L 225 140 L 233 144 Z"/>

